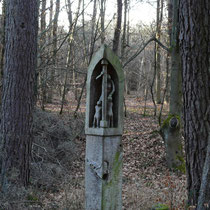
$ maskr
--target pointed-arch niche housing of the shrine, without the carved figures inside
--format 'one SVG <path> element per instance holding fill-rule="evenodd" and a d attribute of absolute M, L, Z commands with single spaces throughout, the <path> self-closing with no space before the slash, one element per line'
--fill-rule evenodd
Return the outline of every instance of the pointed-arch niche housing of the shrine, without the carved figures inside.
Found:
<path fill-rule="evenodd" d="M 94 126 L 94 115 L 96 114 L 97 102 L 102 96 L 103 61 L 106 62 L 107 83 L 114 85 L 112 95 L 113 125 L 106 128 Z M 110 82 L 111 81 L 111 82 Z M 113 88 L 112 88 L 113 89 Z M 108 89 L 109 90 L 109 89 Z M 119 135 L 122 133 L 123 116 L 123 90 L 124 74 L 118 57 L 103 45 L 94 55 L 88 67 L 87 96 L 86 96 L 86 123 L 85 132 L 90 135 Z M 109 95 L 109 92 L 108 92 Z M 107 96 L 108 96 L 107 95 Z M 98 103 L 100 108 L 100 103 Z M 108 109 L 107 109 L 108 110 Z"/>

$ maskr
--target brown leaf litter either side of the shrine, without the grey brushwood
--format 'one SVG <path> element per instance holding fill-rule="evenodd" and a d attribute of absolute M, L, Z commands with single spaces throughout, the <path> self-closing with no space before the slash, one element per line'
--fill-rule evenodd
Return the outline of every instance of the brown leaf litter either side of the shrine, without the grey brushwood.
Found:
<path fill-rule="evenodd" d="M 157 120 L 152 116 L 152 106 L 147 112 L 149 116 L 142 115 L 140 106 L 135 98 L 127 99 L 122 139 L 123 209 L 147 210 L 155 204 L 165 204 L 171 210 L 184 209 L 186 177 L 167 169 L 164 143 L 158 133 Z M 43 195 L 44 209 L 84 209 L 84 134 L 76 136 L 75 144 L 79 148 L 78 158 L 70 166 L 63 167 L 65 176 L 59 192 Z"/>

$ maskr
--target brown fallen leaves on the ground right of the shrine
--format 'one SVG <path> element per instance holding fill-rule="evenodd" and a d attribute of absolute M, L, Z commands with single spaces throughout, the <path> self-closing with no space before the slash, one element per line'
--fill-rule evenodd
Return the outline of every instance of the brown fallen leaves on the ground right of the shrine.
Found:
<path fill-rule="evenodd" d="M 123 135 L 123 205 L 124 209 L 151 209 L 166 204 L 170 209 L 184 209 L 186 176 L 168 170 L 164 142 L 153 116 L 128 106 Z"/>

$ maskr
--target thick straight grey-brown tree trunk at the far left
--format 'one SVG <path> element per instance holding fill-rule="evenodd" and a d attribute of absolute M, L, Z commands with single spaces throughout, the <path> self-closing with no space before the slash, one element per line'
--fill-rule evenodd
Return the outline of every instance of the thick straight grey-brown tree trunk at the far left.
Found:
<path fill-rule="evenodd" d="M 29 182 L 34 78 L 37 59 L 38 1 L 8 0 L 2 98 L 2 189 Z M 12 171 L 18 180 L 12 180 Z"/>

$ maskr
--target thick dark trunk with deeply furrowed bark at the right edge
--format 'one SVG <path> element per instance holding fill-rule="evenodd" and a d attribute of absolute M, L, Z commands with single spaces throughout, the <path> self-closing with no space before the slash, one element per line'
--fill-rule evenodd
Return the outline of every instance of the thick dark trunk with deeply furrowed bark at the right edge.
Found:
<path fill-rule="evenodd" d="M 189 204 L 196 205 L 210 132 L 210 4 L 180 0 L 179 11 L 187 189 Z M 207 192 L 210 206 L 210 186 Z"/>

